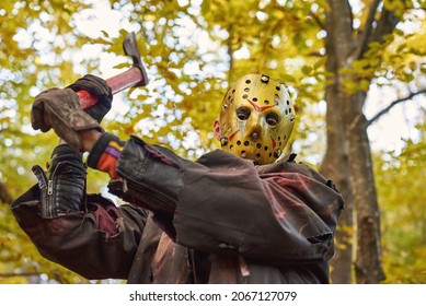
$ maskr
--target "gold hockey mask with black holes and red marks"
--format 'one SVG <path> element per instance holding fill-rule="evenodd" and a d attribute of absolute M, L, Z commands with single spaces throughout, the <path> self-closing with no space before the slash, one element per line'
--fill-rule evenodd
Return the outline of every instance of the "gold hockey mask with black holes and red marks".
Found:
<path fill-rule="evenodd" d="M 255 164 L 274 163 L 295 125 L 295 108 L 286 85 L 265 74 L 247 74 L 227 92 L 219 118 L 222 150 Z"/>

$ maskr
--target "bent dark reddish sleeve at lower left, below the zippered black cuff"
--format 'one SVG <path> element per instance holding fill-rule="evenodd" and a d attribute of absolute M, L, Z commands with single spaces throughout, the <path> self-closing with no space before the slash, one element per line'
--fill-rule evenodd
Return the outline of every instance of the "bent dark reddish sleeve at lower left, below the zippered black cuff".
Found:
<path fill-rule="evenodd" d="M 34 186 L 11 204 L 12 212 L 39 254 L 87 279 L 127 279 L 146 212 L 88 196 L 87 211 L 41 216 L 41 193 Z"/>

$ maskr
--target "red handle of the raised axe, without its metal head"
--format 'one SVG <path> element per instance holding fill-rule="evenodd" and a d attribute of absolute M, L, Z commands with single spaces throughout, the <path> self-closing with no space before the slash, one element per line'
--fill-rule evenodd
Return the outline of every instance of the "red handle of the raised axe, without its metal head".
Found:
<path fill-rule="evenodd" d="M 106 79 L 106 84 L 111 87 L 113 95 L 119 93 L 128 87 L 135 86 L 138 83 L 146 84 L 147 80 L 143 80 L 143 73 L 141 70 L 134 66 L 125 72 Z M 88 91 L 81 90 L 77 92 L 79 96 L 81 107 L 88 109 L 97 103 L 97 96 L 91 95 Z"/>

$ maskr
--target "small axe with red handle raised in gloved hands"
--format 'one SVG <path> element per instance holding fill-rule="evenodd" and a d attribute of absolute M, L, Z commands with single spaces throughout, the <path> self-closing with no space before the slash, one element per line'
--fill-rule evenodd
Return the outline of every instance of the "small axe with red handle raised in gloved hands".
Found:
<path fill-rule="evenodd" d="M 123 49 L 126 56 L 133 58 L 134 63 L 131 68 L 125 72 L 105 80 L 106 84 L 112 89 L 113 95 L 128 87 L 145 86 L 148 84 L 147 71 L 140 59 L 140 52 L 134 32 L 129 33 L 123 40 Z M 77 95 L 80 98 L 80 104 L 83 109 L 88 109 L 97 103 L 97 97 L 91 95 L 88 91 L 78 91 Z"/>

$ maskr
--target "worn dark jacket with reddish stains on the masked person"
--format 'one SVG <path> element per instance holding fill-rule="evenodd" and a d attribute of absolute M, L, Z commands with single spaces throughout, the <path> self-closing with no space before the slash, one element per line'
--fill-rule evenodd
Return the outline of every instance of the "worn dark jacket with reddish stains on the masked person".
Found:
<path fill-rule="evenodd" d="M 11 209 L 42 256 L 88 279 L 329 283 L 343 199 L 295 156 L 255 166 L 218 150 L 191 162 L 131 137 L 108 184 L 126 203 L 83 195 L 80 209 L 46 216 L 39 181 Z"/>

